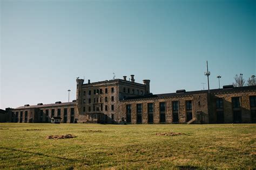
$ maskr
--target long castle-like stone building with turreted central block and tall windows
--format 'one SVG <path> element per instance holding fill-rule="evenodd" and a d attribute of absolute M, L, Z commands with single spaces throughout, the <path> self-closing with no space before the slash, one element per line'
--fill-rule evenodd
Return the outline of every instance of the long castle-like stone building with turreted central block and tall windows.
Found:
<path fill-rule="evenodd" d="M 84 83 L 77 79 L 76 100 L 24 105 L 9 109 L 9 122 L 61 123 L 256 123 L 256 86 L 150 93 L 150 80 L 131 79 Z"/>

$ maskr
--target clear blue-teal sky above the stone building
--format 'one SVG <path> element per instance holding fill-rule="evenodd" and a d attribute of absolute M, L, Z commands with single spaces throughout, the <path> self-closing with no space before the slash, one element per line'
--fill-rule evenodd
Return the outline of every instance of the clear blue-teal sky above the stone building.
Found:
<path fill-rule="evenodd" d="M 255 75 L 256 1 L 5 1 L 0 108 L 76 98 L 85 82 L 135 75 L 153 94 Z M 207 84 L 205 84 L 207 88 Z"/>

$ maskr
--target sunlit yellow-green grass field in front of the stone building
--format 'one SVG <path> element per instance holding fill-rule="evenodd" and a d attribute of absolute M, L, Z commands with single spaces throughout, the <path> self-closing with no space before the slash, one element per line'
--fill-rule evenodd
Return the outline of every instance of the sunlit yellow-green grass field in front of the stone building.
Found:
<path fill-rule="evenodd" d="M 0 169 L 111 167 L 256 168 L 256 124 L 0 123 Z"/>

